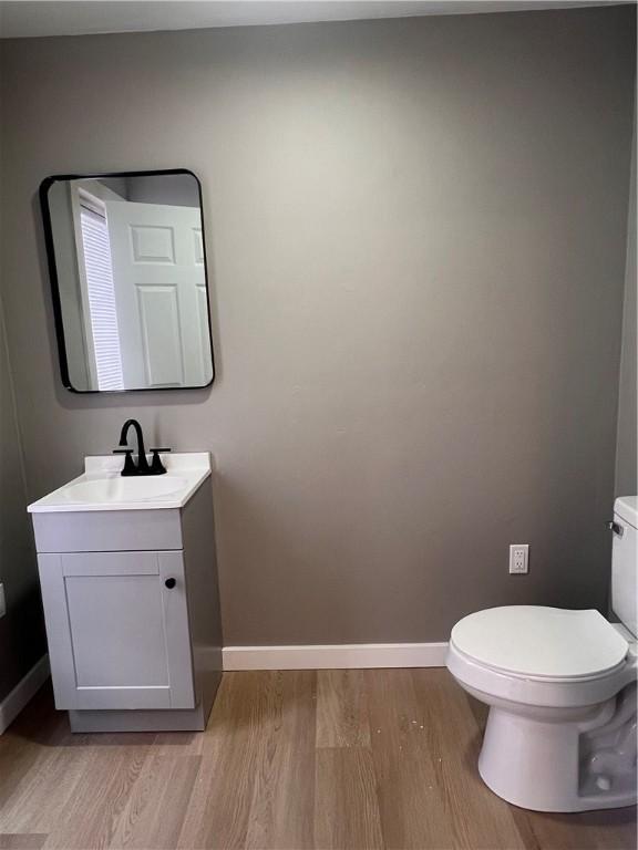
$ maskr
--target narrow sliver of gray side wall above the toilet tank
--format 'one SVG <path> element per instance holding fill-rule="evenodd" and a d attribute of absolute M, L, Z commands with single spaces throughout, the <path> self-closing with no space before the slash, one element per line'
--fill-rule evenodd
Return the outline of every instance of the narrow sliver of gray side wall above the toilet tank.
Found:
<path fill-rule="evenodd" d="M 620 387 L 618 397 L 618 443 L 616 448 L 616 495 L 638 493 L 637 458 L 637 382 L 638 351 L 636 348 L 636 128 L 631 152 L 631 191 L 627 226 L 627 266 L 625 272 L 625 305 L 622 310 L 622 349 L 620 355 Z"/>

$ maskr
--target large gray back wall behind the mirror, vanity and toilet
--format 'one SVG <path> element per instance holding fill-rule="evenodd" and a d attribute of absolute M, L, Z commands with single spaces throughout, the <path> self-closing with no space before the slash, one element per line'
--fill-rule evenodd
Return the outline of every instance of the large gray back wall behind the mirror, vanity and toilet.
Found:
<path fill-rule="evenodd" d="M 605 610 L 634 32 L 607 8 L 8 42 L 30 496 L 125 416 L 210 449 L 226 644 Z M 38 184 L 175 166 L 204 185 L 217 382 L 65 393 Z"/>

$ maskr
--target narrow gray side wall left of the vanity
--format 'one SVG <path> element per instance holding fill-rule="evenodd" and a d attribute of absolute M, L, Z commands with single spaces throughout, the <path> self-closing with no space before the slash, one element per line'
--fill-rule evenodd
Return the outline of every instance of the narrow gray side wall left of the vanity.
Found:
<path fill-rule="evenodd" d="M 0 302 L 0 702 L 47 652 L 38 569 L 27 517 L 20 436 Z"/>

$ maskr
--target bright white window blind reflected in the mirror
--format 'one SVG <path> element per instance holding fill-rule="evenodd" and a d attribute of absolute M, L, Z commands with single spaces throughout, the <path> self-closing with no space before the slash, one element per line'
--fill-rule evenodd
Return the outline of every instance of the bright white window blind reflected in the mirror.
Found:
<path fill-rule="evenodd" d="M 124 390 L 106 219 L 81 207 L 89 312 L 99 390 Z"/>

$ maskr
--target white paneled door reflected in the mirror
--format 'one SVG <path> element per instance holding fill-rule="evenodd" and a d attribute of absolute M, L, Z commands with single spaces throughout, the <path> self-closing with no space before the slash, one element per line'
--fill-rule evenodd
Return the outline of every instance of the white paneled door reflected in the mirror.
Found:
<path fill-rule="evenodd" d="M 106 200 L 125 386 L 210 380 L 199 210 Z"/>

